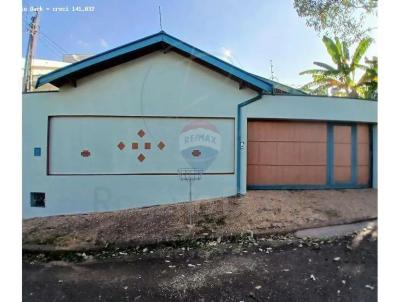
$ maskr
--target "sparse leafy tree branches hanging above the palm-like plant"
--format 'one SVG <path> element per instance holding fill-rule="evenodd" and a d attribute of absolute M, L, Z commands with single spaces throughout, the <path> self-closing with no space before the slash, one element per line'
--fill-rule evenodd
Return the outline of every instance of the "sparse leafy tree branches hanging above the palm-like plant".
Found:
<path fill-rule="evenodd" d="M 293 6 L 318 33 L 353 44 L 374 29 L 365 20 L 376 16 L 378 0 L 294 0 Z"/>

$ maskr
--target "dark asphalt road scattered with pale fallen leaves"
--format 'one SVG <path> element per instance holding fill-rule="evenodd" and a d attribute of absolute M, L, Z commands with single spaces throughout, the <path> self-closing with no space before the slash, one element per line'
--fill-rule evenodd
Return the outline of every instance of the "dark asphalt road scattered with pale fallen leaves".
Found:
<path fill-rule="evenodd" d="M 366 236 L 358 246 L 354 240 L 212 242 L 116 251 L 79 263 L 29 256 L 23 300 L 376 301 L 377 240 Z"/>

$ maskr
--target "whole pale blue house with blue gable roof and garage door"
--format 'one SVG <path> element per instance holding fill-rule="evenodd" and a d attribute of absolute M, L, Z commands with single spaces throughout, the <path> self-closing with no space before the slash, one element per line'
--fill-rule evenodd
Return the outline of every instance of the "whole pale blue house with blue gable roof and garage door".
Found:
<path fill-rule="evenodd" d="M 186 201 L 179 168 L 203 170 L 194 199 L 376 187 L 376 102 L 308 96 L 164 32 L 47 84 L 23 96 L 24 217 Z"/>

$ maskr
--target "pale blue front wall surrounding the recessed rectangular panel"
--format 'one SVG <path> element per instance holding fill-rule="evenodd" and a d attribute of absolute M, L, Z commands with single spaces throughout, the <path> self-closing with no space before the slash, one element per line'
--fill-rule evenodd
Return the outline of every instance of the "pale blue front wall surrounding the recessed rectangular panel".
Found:
<path fill-rule="evenodd" d="M 93 74 L 78 80 L 76 88 L 65 86 L 59 92 L 24 95 L 23 216 L 109 211 L 187 200 L 188 185 L 177 175 L 47 175 L 49 116 L 234 118 L 231 134 L 236 137 L 237 105 L 256 95 L 253 90 L 239 89 L 237 82 L 174 52 L 155 52 Z M 248 118 L 376 123 L 376 103 L 264 96 L 244 107 L 242 193 L 246 192 Z M 236 145 L 235 140 L 235 150 Z M 35 147 L 41 148 L 41 156 L 34 156 Z M 235 174 L 204 175 L 194 184 L 193 198 L 235 195 L 236 161 L 235 153 Z M 180 168 L 178 163 L 177 168 Z M 45 192 L 46 207 L 31 207 L 30 192 Z"/>

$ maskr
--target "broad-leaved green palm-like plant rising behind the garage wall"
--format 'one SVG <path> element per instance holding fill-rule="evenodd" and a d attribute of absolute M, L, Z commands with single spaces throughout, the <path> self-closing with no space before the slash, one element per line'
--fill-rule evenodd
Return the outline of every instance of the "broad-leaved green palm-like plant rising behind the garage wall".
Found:
<path fill-rule="evenodd" d="M 365 85 L 360 85 L 355 80 L 355 74 L 357 68 L 361 66 L 360 60 L 371 45 L 372 39 L 362 39 L 351 58 L 346 42 L 340 42 L 338 38 L 333 41 L 326 36 L 323 37 L 322 41 L 336 66 L 314 62 L 314 65 L 321 67 L 321 69 L 310 69 L 300 73 L 300 75 L 309 74 L 313 79 L 305 84 L 302 89 L 317 95 L 327 95 L 330 92 L 335 96 L 363 97 Z"/>

